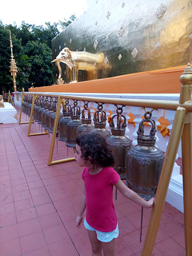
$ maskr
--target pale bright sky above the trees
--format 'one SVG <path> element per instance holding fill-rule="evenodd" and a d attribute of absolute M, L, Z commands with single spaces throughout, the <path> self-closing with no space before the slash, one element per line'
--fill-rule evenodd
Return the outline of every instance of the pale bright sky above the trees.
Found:
<path fill-rule="evenodd" d="M 87 0 L 3 0 L 0 19 L 4 25 L 15 22 L 20 26 L 24 20 L 28 24 L 46 26 L 45 22 L 68 20 L 72 14 L 78 17 L 86 9 Z"/>

